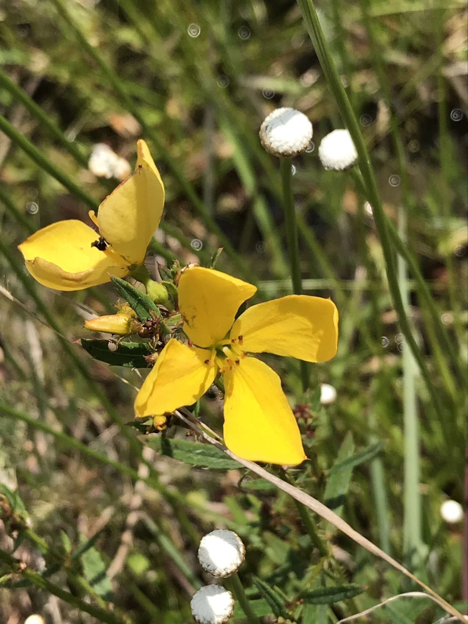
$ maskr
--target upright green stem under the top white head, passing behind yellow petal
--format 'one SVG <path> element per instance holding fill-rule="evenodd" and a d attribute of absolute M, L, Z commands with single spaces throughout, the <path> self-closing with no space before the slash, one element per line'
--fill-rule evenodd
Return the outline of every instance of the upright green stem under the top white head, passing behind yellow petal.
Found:
<path fill-rule="evenodd" d="M 280 158 L 281 183 L 283 185 L 283 210 L 285 211 L 286 237 L 288 239 L 288 255 L 291 265 L 291 280 L 293 293 L 302 294 L 301 265 L 299 258 L 298 225 L 296 223 L 296 209 L 291 186 L 293 174 L 291 172 L 291 158 Z M 309 368 L 305 361 L 300 360 L 301 380 L 303 392 L 309 387 Z"/>

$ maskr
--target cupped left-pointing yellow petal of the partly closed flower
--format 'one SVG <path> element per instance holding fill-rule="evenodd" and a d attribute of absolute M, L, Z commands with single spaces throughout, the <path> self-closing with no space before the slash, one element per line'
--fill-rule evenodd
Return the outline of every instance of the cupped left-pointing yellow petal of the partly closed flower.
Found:
<path fill-rule="evenodd" d="M 18 245 L 26 268 L 42 285 L 57 290 L 81 290 L 129 272 L 122 258 L 99 251 L 91 243 L 99 234 L 81 221 L 52 223 Z"/>

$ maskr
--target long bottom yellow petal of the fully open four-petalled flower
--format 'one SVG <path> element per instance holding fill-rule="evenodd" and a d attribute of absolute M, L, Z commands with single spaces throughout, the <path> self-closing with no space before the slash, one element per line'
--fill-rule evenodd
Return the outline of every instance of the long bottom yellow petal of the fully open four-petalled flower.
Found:
<path fill-rule="evenodd" d="M 242 359 L 224 375 L 224 441 L 251 461 L 300 464 L 306 459 L 301 434 L 281 381 L 270 366 Z"/>

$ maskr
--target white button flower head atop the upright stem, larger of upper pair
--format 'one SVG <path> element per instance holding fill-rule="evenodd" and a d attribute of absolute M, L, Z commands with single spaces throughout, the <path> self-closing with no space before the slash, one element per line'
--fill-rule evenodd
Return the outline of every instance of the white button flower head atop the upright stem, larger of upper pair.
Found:
<path fill-rule="evenodd" d="M 260 141 L 273 156 L 297 156 L 312 140 L 312 124 L 295 109 L 273 110 L 260 126 Z"/>

